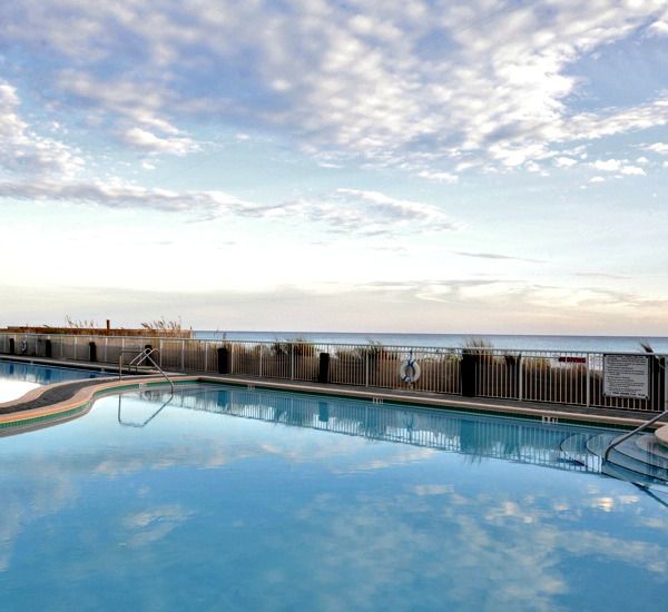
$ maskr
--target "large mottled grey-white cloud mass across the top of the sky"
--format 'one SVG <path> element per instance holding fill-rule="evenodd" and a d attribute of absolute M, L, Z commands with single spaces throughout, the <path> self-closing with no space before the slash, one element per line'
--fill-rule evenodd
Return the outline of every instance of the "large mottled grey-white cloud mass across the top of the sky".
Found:
<path fill-rule="evenodd" d="M 582 80 L 569 72 L 596 49 L 661 31 L 661 7 L 26 0 L 2 9 L 0 34 L 49 53 L 59 101 L 88 105 L 132 146 L 183 155 L 185 137 L 166 136 L 208 116 L 286 130 L 314 154 L 420 162 L 422 178 L 450 182 L 463 154 L 518 168 L 563 142 L 668 125 L 665 95 L 580 112 Z"/>

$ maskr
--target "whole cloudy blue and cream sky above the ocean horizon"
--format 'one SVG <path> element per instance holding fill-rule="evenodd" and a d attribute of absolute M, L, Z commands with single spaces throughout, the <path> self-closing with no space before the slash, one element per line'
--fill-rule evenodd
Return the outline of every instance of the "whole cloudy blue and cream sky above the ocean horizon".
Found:
<path fill-rule="evenodd" d="M 668 0 L 0 4 L 0 325 L 668 336 Z"/>

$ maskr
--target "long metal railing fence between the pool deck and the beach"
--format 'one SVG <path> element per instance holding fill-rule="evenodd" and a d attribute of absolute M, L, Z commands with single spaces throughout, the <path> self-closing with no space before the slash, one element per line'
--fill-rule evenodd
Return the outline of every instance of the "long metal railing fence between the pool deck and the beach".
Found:
<path fill-rule="evenodd" d="M 318 378 L 320 355 L 326 353 L 330 357 L 327 381 L 332 384 L 450 395 L 466 393 L 478 397 L 633 412 L 668 409 L 667 356 L 662 354 L 646 355 L 649 397 L 623 398 L 603 394 L 603 354 L 600 352 L 0 334 L 0 354 L 10 352 L 10 339 L 13 339 L 14 352 L 23 345 L 29 356 L 45 357 L 49 353 L 56 359 L 80 362 L 90 361 L 92 343 L 101 363 L 118 362 L 124 351 L 140 343 L 149 347 L 155 367 L 203 374 L 222 372 L 219 349 L 225 348 L 226 374 L 304 382 Z M 400 375 L 402 363 L 411 355 L 421 369 L 420 378 L 412 383 Z M 466 373 L 463 371 L 471 364 L 472 378 L 468 378 L 468 388 L 464 388 Z"/>

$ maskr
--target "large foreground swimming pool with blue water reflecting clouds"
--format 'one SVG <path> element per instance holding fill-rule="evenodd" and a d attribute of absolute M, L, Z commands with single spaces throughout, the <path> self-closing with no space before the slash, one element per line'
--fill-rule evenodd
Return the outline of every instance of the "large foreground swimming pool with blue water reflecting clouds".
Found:
<path fill-rule="evenodd" d="M 11 610 L 662 610 L 601 430 L 197 385 L 0 438 Z M 568 445 L 566 445 L 568 447 Z"/>

